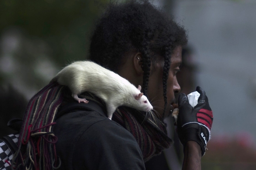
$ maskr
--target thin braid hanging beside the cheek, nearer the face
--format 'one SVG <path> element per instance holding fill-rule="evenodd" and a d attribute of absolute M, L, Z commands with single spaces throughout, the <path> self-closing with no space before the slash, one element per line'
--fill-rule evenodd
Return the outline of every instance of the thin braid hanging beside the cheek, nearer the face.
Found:
<path fill-rule="evenodd" d="M 165 47 L 165 56 L 164 56 L 165 65 L 163 68 L 163 91 L 164 91 L 164 100 L 165 100 L 165 107 L 164 107 L 164 113 L 167 107 L 167 96 L 166 96 L 166 90 L 167 90 L 167 79 L 169 75 L 169 69 L 171 66 L 171 48 L 170 46 Z"/>

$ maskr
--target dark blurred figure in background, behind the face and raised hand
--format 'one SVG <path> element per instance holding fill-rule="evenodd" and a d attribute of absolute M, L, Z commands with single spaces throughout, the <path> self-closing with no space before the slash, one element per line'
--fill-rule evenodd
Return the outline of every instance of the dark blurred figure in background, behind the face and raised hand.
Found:
<path fill-rule="evenodd" d="M 177 81 L 181 88 L 180 93 L 189 94 L 196 88 L 197 66 L 194 64 L 194 49 L 192 46 L 182 47 L 182 66 L 181 71 L 176 74 Z M 164 149 L 160 155 L 154 156 L 145 163 L 146 170 L 181 170 L 183 160 L 182 144 L 179 142 L 178 134 L 175 130 L 174 119 L 169 116 L 164 119 L 168 137 L 174 144 Z"/>

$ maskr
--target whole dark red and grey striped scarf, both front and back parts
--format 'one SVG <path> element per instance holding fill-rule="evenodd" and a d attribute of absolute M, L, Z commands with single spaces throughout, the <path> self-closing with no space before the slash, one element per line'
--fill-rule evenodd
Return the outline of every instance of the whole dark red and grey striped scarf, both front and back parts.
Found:
<path fill-rule="evenodd" d="M 52 132 L 52 125 L 58 109 L 73 100 L 70 91 L 57 82 L 49 83 L 35 94 L 27 105 L 23 124 L 18 140 L 18 150 L 12 160 L 15 170 L 52 170 L 60 166 L 56 154 L 55 143 L 58 138 Z M 104 105 L 91 93 L 85 97 Z M 112 120 L 121 124 L 137 140 L 142 150 L 144 161 L 163 149 L 171 146 L 172 140 L 167 137 L 163 121 L 150 115 L 145 118 L 144 112 L 133 108 L 119 107 L 113 114 Z"/>

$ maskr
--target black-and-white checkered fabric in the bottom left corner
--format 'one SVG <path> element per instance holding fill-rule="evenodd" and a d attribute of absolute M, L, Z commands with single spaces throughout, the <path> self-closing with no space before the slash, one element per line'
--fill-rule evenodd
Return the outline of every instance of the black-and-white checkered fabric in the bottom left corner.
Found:
<path fill-rule="evenodd" d="M 17 144 L 19 134 L 10 134 L 8 135 L 11 137 L 11 139 Z M 11 150 L 8 148 L 8 146 L 0 140 L 0 170 L 11 170 L 11 166 L 6 163 L 7 160 L 11 164 L 11 160 L 13 157 L 13 153 L 11 153 Z"/>

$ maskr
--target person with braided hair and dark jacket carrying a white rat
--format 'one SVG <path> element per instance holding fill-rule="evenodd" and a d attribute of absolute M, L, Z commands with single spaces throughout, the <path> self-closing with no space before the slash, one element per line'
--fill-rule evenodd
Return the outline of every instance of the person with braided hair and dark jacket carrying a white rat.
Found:
<path fill-rule="evenodd" d="M 142 85 L 142 92 L 154 107 L 153 113 L 121 106 L 110 120 L 105 103 L 94 94 L 82 93 L 80 97 L 86 98 L 89 103 L 77 103 L 67 87 L 50 83 L 32 98 L 28 108 L 35 109 L 36 113 L 37 110 L 43 112 L 41 108 L 34 107 L 33 103 L 39 102 L 42 103 L 37 104 L 39 107 L 45 105 L 46 110 L 54 110 L 54 114 L 58 110 L 56 124 L 49 121 L 45 126 L 32 129 L 31 121 L 37 121 L 34 118 L 42 116 L 38 113 L 33 118 L 27 118 L 30 122 L 23 123 L 18 146 L 21 148 L 22 144 L 30 144 L 32 147 L 20 149 L 30 154 L 23 162 L 30 162 L 27 167 L 42 166 L 42 169 L 54 166 L 60 170 L 144 170 L 144 162 L 172 144 L 166 135 L 163 119 L 175 108 L 175 97 L 180 92 L 176 73 L 182 62 L 182 46 L 186 44 L 184 28 L 148 1 L 109 5 L 91 36 L 89 59 L 126 78 L 135 87 Z M 44 95 L 44 92 L 56 87 L 57 90 L 51 91 L 54 94 L 52 100 L 63 99 L 61 103 L 48 103 L 45 96 L 53 95 Z M 184 146 L 183 170 L 201 168 L 201 156 L 204 155 L 212 125 L 208 98 L 202 88 L 197 87 L 197 91 L 201 96 L 195 108 L 189 105 L 185 94 L 181 93 L 178 98 L 180 113 L 177 129 Z M 43 98 L 37 98 L 40 94 Z M 85 108 L 89 105 L 94 108 Z M 207 121 L 198 118 L 200 110 L 205 112 L 204 120 Z M 51 113 L 43 115 L 48 114 Z M 41 124 L 38 121 L 37 125 Z M 32 138 L 36 140 L 31 142 Z M 51 147 L 41 144 L 42 140 L 50 143 Z M 33 152 L 28 153 L 30 149 Z M 47 149 L 51 155 L 49 159 L 45 156 Z M 14 160 L 19 155 L 26 158 L 26 154 L 16 152 Z"/>

